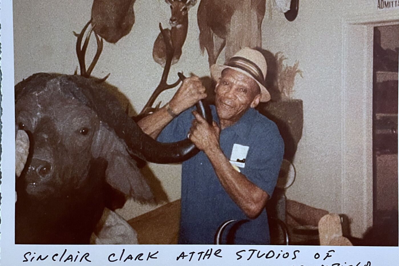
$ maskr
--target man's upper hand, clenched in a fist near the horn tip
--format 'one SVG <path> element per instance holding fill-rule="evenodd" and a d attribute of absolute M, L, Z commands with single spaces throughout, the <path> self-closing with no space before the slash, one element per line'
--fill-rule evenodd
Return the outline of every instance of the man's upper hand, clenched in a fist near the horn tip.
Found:
<path fill-rule="evenodd" d="M 175 114 L 180 114 L 205 97 L 205 87 L 199 77 L 188 77 L 170 100 L 169 106 Z"/>

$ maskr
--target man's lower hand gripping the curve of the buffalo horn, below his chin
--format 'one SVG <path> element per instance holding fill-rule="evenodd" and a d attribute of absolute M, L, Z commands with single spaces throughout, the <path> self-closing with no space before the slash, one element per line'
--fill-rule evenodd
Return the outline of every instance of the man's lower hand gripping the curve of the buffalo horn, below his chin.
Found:
<path fill-rule="evenodd" d="M 193 114 L 195 118 L 192 121 L 189 139 L 205 154 L 219 149 L 219 126 L 215 121 L 212 122 L 212 126 L 209 125 L 197 111 L 193 111 Z"/>

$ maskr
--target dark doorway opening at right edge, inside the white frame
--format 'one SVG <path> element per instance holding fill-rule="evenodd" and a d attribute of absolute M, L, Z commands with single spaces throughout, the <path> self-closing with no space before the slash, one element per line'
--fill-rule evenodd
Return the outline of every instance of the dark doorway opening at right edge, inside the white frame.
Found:
<path fill-rule="evenodd" d="M 373 28 L 373 246 L 398 245 L 399 24 Z"/>

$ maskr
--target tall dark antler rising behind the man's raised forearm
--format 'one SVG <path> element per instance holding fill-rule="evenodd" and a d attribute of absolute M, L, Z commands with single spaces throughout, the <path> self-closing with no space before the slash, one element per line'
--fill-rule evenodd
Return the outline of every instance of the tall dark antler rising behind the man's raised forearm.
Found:
<path fill-rule="evenodd" d="M 172 59 L 173 59 L 173 47 L 172 47 L 172 41 L 170 39 L 170 36 L 168 35 L 167 30 L 164 30 L 162 28 L 161 23 L 159 24 L 159 29 L 162 33 L 162 37 L 164 38 L 164 43 L 166 46 L 166 64 L 164 67 L 164 72 L 162 73 L 161 81 L 159 82 L 158 87 L 156 87 L 155 91 L 152 93 L 150 99 L 148 99 L 148 102 L 146 105 L 144 105 L 144 108 L 141 110 L 139 115 L 149 113 L 151 111 L 156 110 L 156 108 L 152 108 L 152 104 L 154 104 L 156 98 L 162 93 L 162 91 L 166 91 L 168 89 L 172 89 L 179 85 L 181 79 L 178 79 L 175 83 L 173 84 L 168 84 L 167 79 L 170 71 L 170 66 L 172 65 Z M 159 108 L 160 103 L 157 105 Z"/>

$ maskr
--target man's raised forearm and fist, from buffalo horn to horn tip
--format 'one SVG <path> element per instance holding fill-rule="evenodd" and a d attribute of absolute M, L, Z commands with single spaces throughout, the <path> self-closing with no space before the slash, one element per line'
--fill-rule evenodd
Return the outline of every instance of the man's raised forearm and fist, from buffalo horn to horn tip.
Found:
<path fill-rule="evenodd" d="M 189 77 L 183 81 L 169 104 L 142 118 L 137 124 L 144 133 L 156 139 L 162 129 L 173 119 L 170 112 L 178 115 L 205 97 L 205 87 L 203 87 L 199 78 Z"/>

